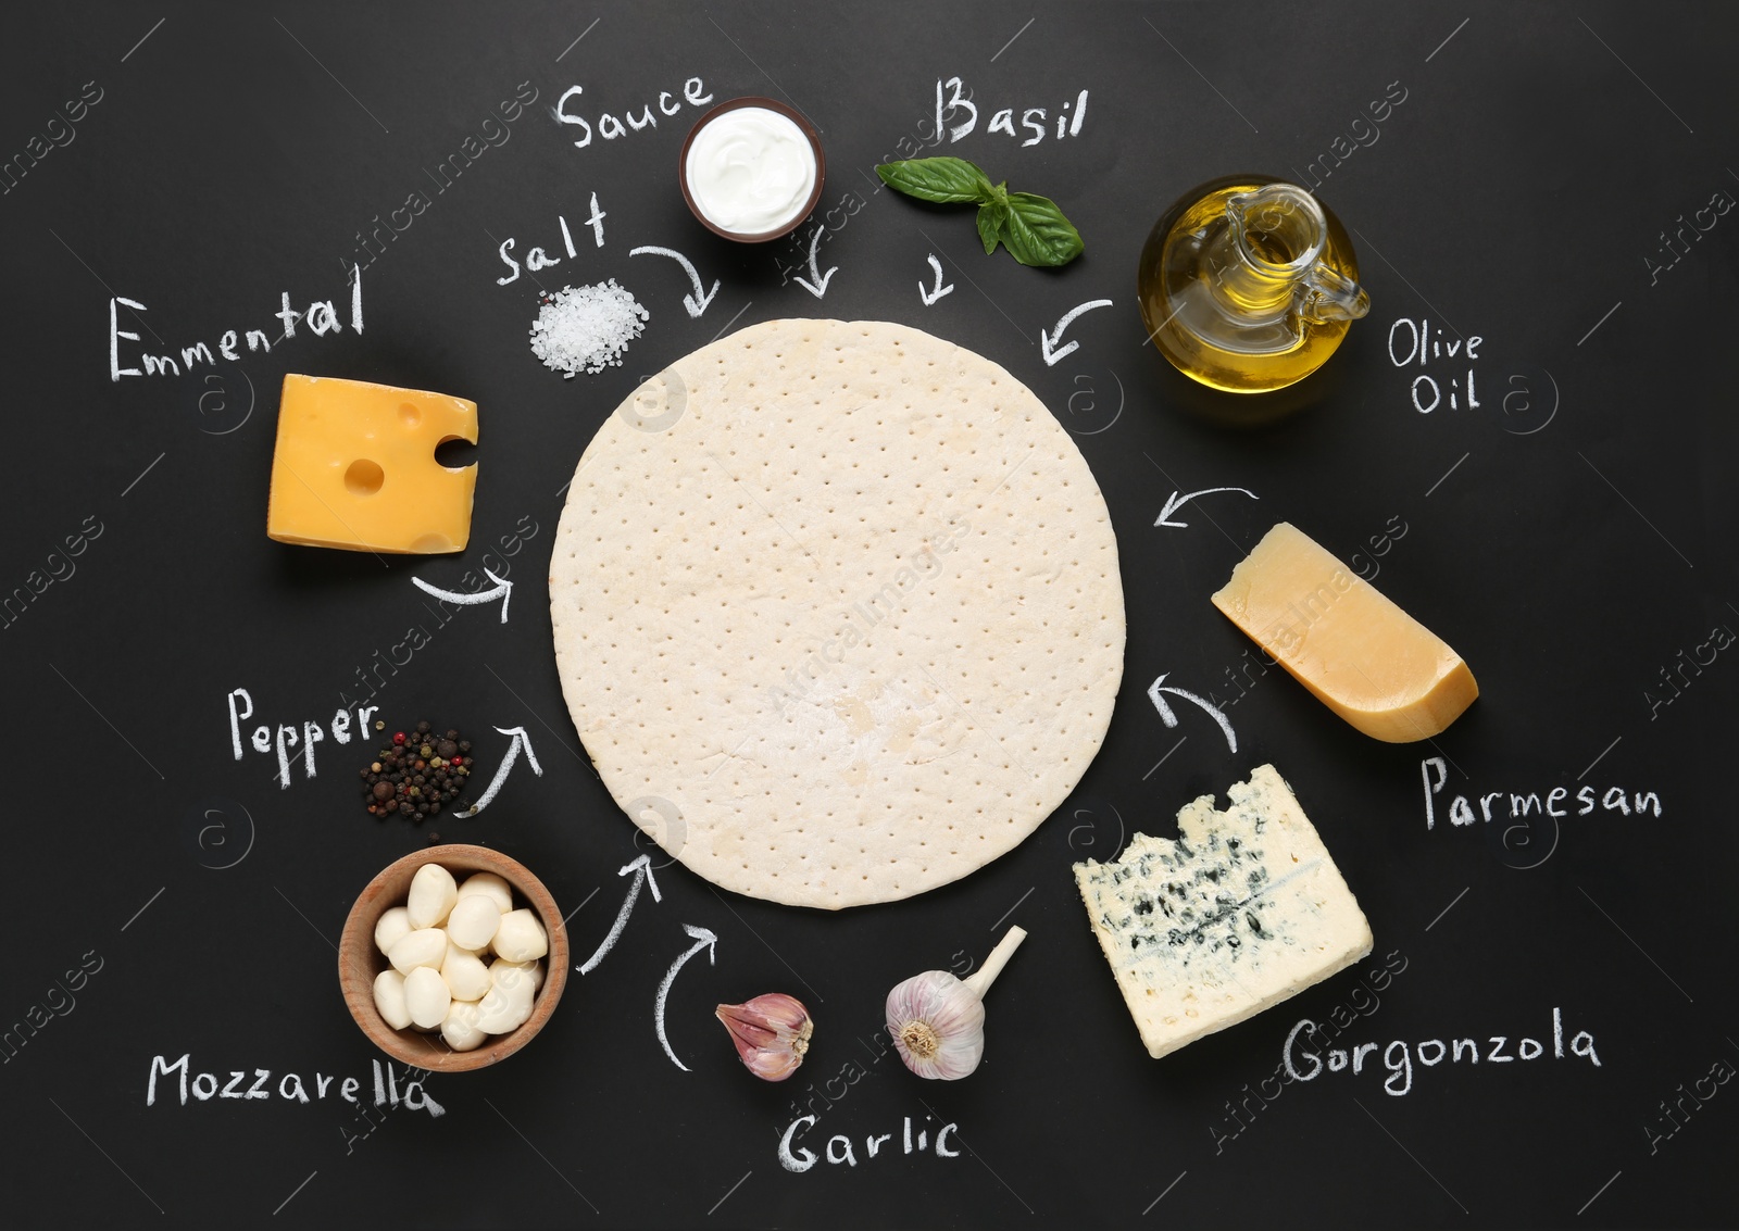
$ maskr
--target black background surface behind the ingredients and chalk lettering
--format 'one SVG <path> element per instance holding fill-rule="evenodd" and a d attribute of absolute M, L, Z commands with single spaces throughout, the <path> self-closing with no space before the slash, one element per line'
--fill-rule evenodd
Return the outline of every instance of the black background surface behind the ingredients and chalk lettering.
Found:
<path fill-rule="evenodd" d="M 1730 1226 L 1736 37 L 1725 7 L 1612 3 L 10 14 L 7 1226 Z M 661 90 L 680 99 L 692 77 L 715 99 L 790 99 L 823 130 L 819 256 L 838 269 L 824 299 L 791 280 L 802 243 L 732 247 L 687 214 L 675 163 L 694 108 L 583 150 L 551 116 L 572 85 L 584 94 L 570 110 L 596 127 Z M 1057 273 L 988 259 L 967 212 L 873 191 L 875 163 L 932 130 L 951 77 L 979 123 L 946 151 L 1056 196 L 1085 257 Z M 995 110 L 1054 116 L 1080 90 L 1076 137 L 1021 148 L 986 132 Z M 489 144 L 516 92 L 534 104 Z M 1348 137 L 1386 94 L 1403 101 L 1376 143 L 1358 144 L 1363 123 Z M 68 144 L 63 103 L 80 116 Z M 433 172 L 466 137 L 483 153 L 442 186 Z M 1313 183 L 1348 143 L 1320 195 L 1353 230 L 1369 320 L 1304 386 L 1299 416 L 1202 424 L 1186 414 L 1198 398 L 1143 346 L 1148 228 L 1214 176 Z M 146 306 L 157 353 L 216 348 L 226 329 L 277 336 L 283 292 L 344 311 L 348 266 L 367 259 L 356 233 L 417 191 L 426 209 L 400 214 L 405 230 L 363 271 L 362 336 L 303 329 L 238 363 L 111 381 L 111 296 Z M 583 223 L 591 193 L 602 249 Z M 623 367 L 574 381 L 527 348 L 534 282 L 496 283 L 508 236 L 522 257 L 560 254 L 558 216 L 579 256 L 544 282 L 614 276 L 652 313 Z M 682 269 L 630 259 L 636 245 L 722 280 L 704 316 L 682 308 Z M 916 294 L 934 285 L 932 252 L 955 283 L 934 308 Z M 1040 332 L 1092 299 L 1115 306 L 1078 318 L 1080 349 L 1047 367 Z M 560 492 L 640 374 L 777 316 L 941 334 L 1007 365 L 1069 428 L 1116 522 L 1129 603 L 1104 751 L 1014 854 L 916 901 L 833 916 L 663 868 L 663 902 L 642 897 L 543 1036 L 430 1081 L 442 1118 L 400 1108 L 376 1127 L 339 1083 L 313 1097 L 316 1073 L 358 1078 L 367 1097 L 377 1054 L 339 998 L 334 942 L 362 885 L 424 835 L 360 812 L 355 744 L 329 739 L 318 777 L 287 789 L 271 756 L 235 760 L 226 695 L 247 689 L 256 723 L 327 722 L 358 668 L 431 622 L 412 576 L 459 588 L 466 570 L 510 569 L 510 622 L 466 609 L 376 702 L 393 725 L 482 732 L 490 765 L 506 744 L 490 729 L 527 729 L 543 775 L 522 765 L 490 810 L 436 828 L 536 869 L 574 911 L 576 960 L 588 955 L 640 847 L 553 668 L 543 579 Z M 1478 409 L 1414 409 L 1419 369 L 1391 363 L 1386 341 L 1421 316 L 1445 339 L 1483 337 Z M 122 330 L 144 332 L 136 320 L 120 309 Z M 141 344 L 120 346 L 125 367 Z M 264 537 L 285 372 L 480 403 L 463 558 L 383 567 Z M 1205 496 L 1184 506 L 1188 529 L 1155 527 L 1172 492 L 1209 487 L 1259 501 Z M 1228 683 L 1249 643 L 1207 595 L 1276 520 L 1376 577 L 1476 671 L 1482 699 L 1436 741 L 1435 828 L 1431 746 L 1377 744 L 1278 671 L 1247 695 Z M 1160 673 L 1236 699 L 1236 755 L 1193 706 L 1176 730 L 1162 723 L 1143 695 Z M 1315 819 L 1376 953 L 1149 1061 L 1069 864 L 1109 857 L 1137 828 L 1174 833 L 1179 805 L 1263 762 Z M 1560 786 L 1569 817 L 1506 819 L 1508 793 Z M 1661 815 L 1576 815 L 1584 786 L 1654 791 Z M 1478 807 L 1483 793 L 1506 793 L 1499 821 L 1447 822 L 1454 795 Z M 876 1061 L 887 988 L 960 951 L 981 958 L 1003 920 L 1031 939 L 991 996 L 983 1069 L 941 1085 Z M 720 937 L 716 965 L 692 962 L 670 998 L 687 1073 L 652 1029 L 683 923 Z M 770 989 L 819 1019 L 786 1087 L 748 1078 L 711 1021 L 716 1001 Z M 1591 1036 L 1598 1068 L 1553 1057 L 1555 1008 L 1567 1045 Z M 1355 1019 L 1348 1041 L 1381 1045 L 1365 1071 L 1276 1083 L 1289 1029 L 1336 1014 Z M 1395 1040 L 1416 1055 L 1471 1036 L 1485 1052 L 1496 1035 L 1546 1054 L 1416 1057 L 1410 1090 L 1384 1088 Z M 270 1069 L 270 1097 L 181 1106 L 160 1076 L 148 1106 L 153 1057 L 183 1054 L 219 1081 Z M 280 1097 L 290 1073 L 306 1106 Z M 798 1144 L 821 1153 L 843 1134 L 856 1165 L 781 1168 L 779 1137 L 805 1113 L 817 1121 Z M 955 1123 L 960 1156 L 901 1153 L 904 1118 L 915 1134 Z M 871 1160 L 878 1134 L 892 1153 Z"/>

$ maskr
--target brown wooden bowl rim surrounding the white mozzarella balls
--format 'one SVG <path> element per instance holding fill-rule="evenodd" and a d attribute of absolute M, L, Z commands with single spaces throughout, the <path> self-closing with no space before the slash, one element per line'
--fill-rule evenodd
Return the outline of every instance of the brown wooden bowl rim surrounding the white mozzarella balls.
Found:
<path fill-rule="evenodd" d="M 506 1035 L 494 1035 L 487 1043 L 471 1052 L 454 1052 L 436 1031 L 424 1035 L 417 1029 L 393 1029 L 374 1007 L 374 977 L 386 970 L 386 955 L 374 948 L 374 925 L 393 906 L 403 906 L 410 894 L 410 878 L 423 864 L 440 864 L 464 880 L 470 873 L 492 871 L 513 887 L 515 904 L 527 904 L 537 911 L 544 932 L 550 934 L 550 953 L 544 958 L 544 984 L 537 989 L 532 1003 L 532 1015 L 516 1029 Z M 344 935 L 337 942 L 337 982 L 344 991 L 344 1005 L 350 1015 L 362 1026 L 376 1047 L 395 1061 L 414 1064 L 419 1069 L 435 1073 L 468 1073 L 496 1061 L 504 1061 L 532 1041 L 555 1012 L 555 1003 L 567 986 L 567 927 L 562 923 L 562 911 L 543 882 L 516 859 L 508 859 L 499 850 L 487 847 L 466 847 L 459 843 L 430 847 L 417 850 L 398 862 L 388 866 L 379 876 L 369 882 L 356 904 L 350 908 L 344 920 Z"/>

